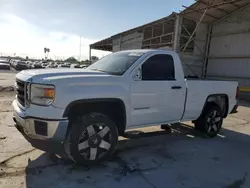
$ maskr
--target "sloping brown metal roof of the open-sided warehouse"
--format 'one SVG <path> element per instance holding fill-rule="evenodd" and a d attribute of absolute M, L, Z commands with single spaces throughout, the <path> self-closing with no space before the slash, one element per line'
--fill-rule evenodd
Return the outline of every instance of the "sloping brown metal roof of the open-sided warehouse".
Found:
<path fill-rule="evenodd" d="M 183 15 L 184 17 L 194 21 L 199 21 L 205 12 L 202 22 L 213 24 L 248 5 L 250 5 L 250 0 L 196 0 L 196 2 L 189 7 L 183 6 L 186 9 L 181 11 L 180 13 L 173 12 L 167 17 L 118 33 L 109 38 L 91 44 L 90 47 L 93 49 L 112 51 L 113 38 L 120 35 L 125 35 L 127 33 L 132 33 L 134 31 L 141 32 L 143 28 L 174 19 L 177 14 Z"/>

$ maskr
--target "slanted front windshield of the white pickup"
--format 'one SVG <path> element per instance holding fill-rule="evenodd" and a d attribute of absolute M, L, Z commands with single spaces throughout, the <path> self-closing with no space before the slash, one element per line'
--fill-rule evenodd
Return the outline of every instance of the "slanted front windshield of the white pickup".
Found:
<path fill-rule="evenodd" d="M 113 53 L 90 65 L 87 69 L 123 75 L 142 55 L 141 52 Z"/>

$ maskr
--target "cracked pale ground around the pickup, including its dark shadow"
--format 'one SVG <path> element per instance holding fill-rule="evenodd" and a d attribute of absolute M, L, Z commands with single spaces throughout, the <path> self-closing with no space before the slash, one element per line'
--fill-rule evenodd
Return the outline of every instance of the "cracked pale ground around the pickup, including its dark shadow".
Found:
<path fill-rule="evenodd" d="M 1 86 L 9 87 L 14 74 L 0 75 Z M 120 138 L 109 161 L 86 168 L 32 148 L 14 127 L 13 98 L 13 91 L 0 92 L 0 187 L 250 187 L 247 103 L 225 119 L 214 139 L 202 138 L 189 122 L 172 133 L 158 126 L 136 129 Z"/>

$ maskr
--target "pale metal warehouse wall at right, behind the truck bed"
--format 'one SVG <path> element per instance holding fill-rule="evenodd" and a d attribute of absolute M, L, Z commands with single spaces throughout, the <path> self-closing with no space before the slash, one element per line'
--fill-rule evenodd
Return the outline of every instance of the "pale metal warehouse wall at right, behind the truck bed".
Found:
<path fill-rule="evenodd" d="M 209 77 L 250 86 L 250 8 L 213 26 L 209 56 Z"/>

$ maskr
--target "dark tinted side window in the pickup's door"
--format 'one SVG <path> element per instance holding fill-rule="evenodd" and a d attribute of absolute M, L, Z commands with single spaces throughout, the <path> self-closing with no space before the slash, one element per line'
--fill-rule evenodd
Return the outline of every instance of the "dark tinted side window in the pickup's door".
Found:
<path fill-rule="evenodd" d="M 174 80 L 174 60 L 171 55 L 159 54 L 150 57 L 142 65 L 142 80 Z"/>

